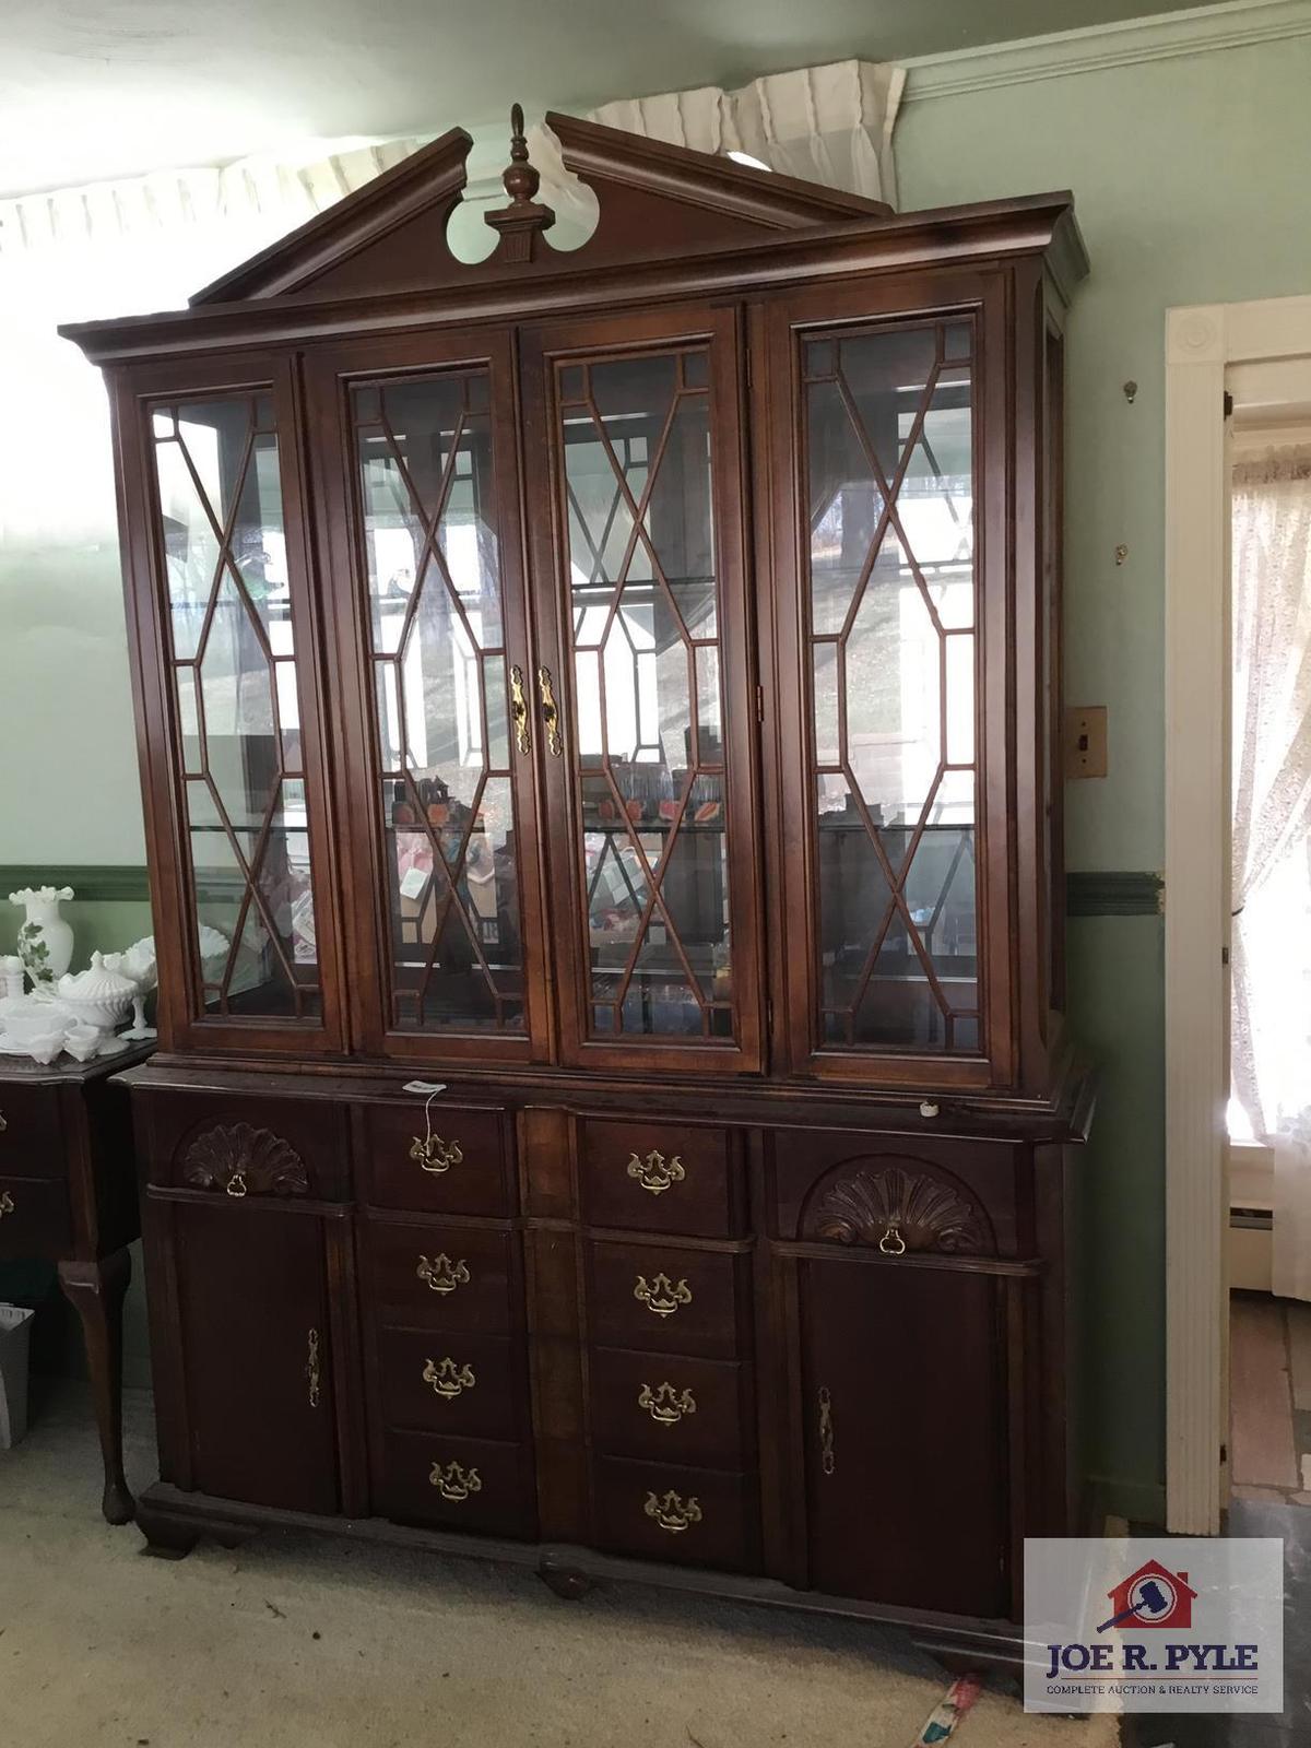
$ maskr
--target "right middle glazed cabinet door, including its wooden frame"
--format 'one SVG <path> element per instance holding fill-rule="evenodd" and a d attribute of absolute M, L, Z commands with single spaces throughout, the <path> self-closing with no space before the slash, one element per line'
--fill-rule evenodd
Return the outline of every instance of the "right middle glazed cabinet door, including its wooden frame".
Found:
<path fill-rule="evenodd" d="M 561 1054 L 762 1061 L 736 315 L 523 341 Z"/>

